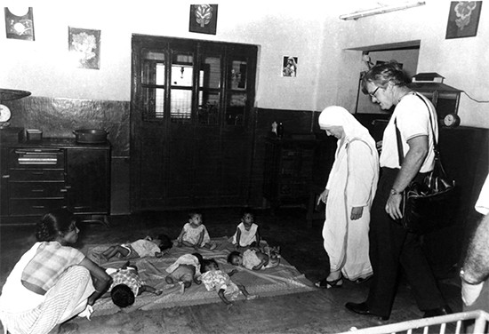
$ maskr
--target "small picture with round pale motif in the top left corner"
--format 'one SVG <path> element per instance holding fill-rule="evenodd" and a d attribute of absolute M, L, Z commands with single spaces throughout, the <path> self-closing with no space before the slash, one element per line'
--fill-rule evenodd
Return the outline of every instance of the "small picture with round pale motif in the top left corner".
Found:
<path fill-rule="evenodd" d="M 7 38 L 34 41 L 32 7 L 5 7 L 5 31 Z"/>

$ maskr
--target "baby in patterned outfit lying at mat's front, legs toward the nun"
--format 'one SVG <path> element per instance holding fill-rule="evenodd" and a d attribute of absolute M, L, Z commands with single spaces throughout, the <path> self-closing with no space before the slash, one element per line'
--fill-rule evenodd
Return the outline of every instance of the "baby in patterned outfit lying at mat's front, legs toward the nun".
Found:
<path fill-rule="evenodd" d="M 232 306 L 232 302 L 240 294 L 244 295 L 246 299 L 258 298 L 258 296 L 250 295 L 243 284 L 233 282 L 230 279 L 230 275 L 235 274 L 236 270 L 231 271 L 229 274 L 224 273 L 219 269 L 219 265 L 215 259 L 204 259 L 202 261 L 202 282 L 204 282 L 205 289 L 208 291 L 217 291 L 217 294 L 228 306 Z"/>

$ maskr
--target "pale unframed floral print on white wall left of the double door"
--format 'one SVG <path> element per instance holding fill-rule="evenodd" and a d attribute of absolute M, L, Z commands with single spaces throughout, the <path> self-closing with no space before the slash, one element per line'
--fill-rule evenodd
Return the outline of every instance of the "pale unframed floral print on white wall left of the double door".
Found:
<path fill-rule="evenodd" d="M 100 68 L 100 30 L 68 27 L 68 50 L 77 68 Z"/>

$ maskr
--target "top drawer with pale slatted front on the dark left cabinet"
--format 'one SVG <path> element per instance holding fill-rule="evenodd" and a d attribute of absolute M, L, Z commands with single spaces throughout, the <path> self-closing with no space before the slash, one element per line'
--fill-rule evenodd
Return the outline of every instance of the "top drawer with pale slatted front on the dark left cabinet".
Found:
<path fill-rule="evenodd" d="M 17 148 L 10 151 L 9 167 L 15 169 L 63 169 L 65 155 L 58 148 Z"/>

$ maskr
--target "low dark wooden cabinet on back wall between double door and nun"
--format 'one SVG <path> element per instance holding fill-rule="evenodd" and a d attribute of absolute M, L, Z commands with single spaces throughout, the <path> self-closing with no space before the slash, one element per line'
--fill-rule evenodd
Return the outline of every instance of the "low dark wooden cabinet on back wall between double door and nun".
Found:
<path fill-rule="evenodd" d="M 272 208 L 306 205 L 318 144 L 316 139 L 267 139 L 263 196 Z"/>

